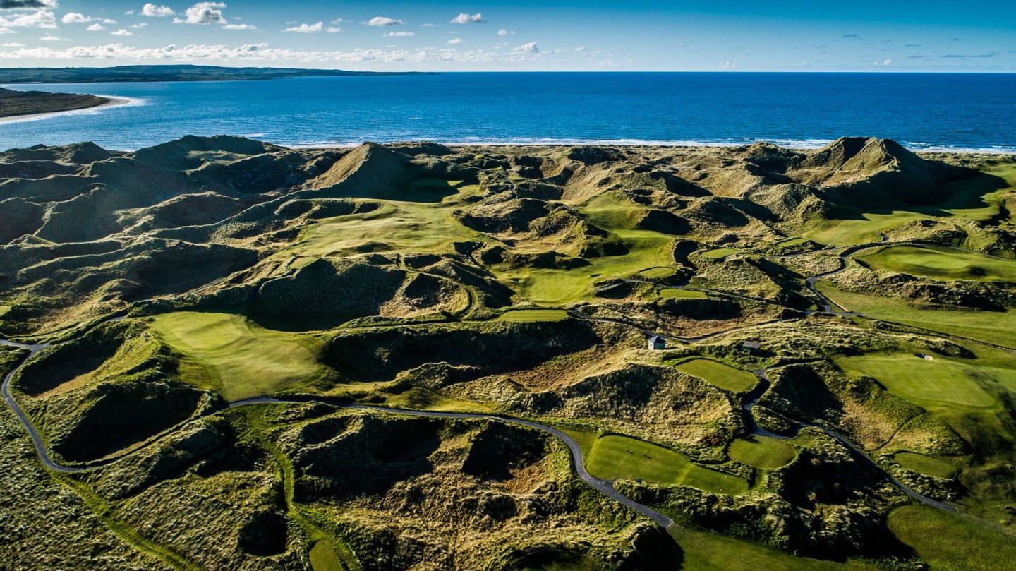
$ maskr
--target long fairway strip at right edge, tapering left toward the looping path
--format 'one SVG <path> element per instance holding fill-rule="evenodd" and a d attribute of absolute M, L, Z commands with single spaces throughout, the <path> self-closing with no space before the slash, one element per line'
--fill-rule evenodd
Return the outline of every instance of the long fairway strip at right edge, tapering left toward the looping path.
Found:
<path fill-rule="evenodd" d="M 1016 311 L 917 309 L 887 298 L 843 292 L 823 280 L 817 281 L 815 287 L 839 305 L 875 319 L 1016 348 L 1016 335 L 1012 333 L 1016 331 Z"/>

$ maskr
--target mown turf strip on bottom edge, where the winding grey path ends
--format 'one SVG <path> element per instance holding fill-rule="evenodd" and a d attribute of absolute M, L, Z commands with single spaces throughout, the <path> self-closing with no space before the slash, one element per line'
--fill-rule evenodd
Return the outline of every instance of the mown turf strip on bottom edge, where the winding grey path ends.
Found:
<path fill-rule="evenodd" d="M 707 531 L 680 531 L 682 571 L 849 571 L 880 569 L 861 561 L 836 563 L 799 557 Z"/>

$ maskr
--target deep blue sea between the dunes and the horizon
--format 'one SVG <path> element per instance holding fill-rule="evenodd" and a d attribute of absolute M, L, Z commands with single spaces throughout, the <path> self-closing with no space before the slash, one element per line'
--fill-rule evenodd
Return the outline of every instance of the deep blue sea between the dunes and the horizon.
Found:
<path fill-rule="evenodd" d="M 90 140 L 135 149 L 187 134 L 290 146 L 446 143 L 819 146 L 1016 152 L 1016 74 L 445 73 L 268 81 L 8 85 L 132 105 L 0 124 L 0 148 Z"/>

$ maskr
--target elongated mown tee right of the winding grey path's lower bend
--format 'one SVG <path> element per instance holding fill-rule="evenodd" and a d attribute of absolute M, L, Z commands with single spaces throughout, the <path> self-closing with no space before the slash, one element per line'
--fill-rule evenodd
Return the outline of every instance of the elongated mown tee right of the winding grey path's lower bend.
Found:
<path fill-rule="evenodd" d="M 684 455 L 624 436 L 605 436 L 592 445 L 585 463 L 605 480 L 635 480 L 690 486 L 717 494 L 748 490 L 744 480 L 692 463 Z"/>

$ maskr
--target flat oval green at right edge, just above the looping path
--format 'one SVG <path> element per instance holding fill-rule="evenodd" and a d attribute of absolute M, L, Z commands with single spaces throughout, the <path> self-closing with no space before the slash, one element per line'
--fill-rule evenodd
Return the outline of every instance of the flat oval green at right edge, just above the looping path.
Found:
<path fill-rule="evenodd" d="M 933 279 L 1016 281 L 1016 261 L 997 260 L 946 248 L 891 246 L 859 255 L 875 269 L 888 269 Z"/>

